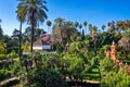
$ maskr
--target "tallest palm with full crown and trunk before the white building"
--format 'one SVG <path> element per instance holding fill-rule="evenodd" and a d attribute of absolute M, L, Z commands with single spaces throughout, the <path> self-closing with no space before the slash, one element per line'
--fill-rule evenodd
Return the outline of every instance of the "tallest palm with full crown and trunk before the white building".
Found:
<path fill-rule="evenodd" d="M 25 15 L 24 18 L 31 26 L 31 42 L 30 42 L 30 52 L 32 52 L 32 42 L 34 42 L 34 29 L 43 23 L 48 18 L 46 11 L 48 11 L 44 5 L 47 2 L 44 0 L 18 0 L 18 7 L 24 8 L 21 12 L 22 15 Z"/>

